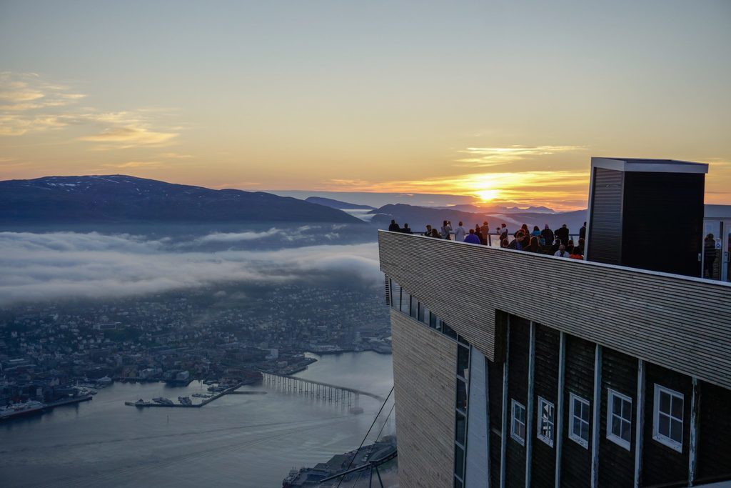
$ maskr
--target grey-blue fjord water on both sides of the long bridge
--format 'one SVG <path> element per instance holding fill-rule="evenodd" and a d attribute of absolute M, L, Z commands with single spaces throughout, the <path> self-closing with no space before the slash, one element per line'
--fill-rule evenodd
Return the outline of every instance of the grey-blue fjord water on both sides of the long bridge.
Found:
<path fill-rule="evenodd" d="M 383 397 L 393 385 L 391 356 L 314 357 L 318 361 L 298 376 Z M 91 402 L 0 424 L 1 485 L 281 487 L 290 469 L 356 448 L 380 407 L 361 397 L 364 413 L 356 416 L 266 385 L 243 389 L 268 394 L 228 395 L 203 408 L 138 409 L 124 401 L 176 400 L 205 393 L 205 386 L 114 383 Z M 392 415 L 384 434 L 394 425 Z"/>

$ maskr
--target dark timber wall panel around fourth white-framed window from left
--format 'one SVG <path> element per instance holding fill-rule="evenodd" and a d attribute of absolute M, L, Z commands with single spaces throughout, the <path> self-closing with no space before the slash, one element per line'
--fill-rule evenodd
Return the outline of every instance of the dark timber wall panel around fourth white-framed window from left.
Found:
<path fill-rule="evenodd" d="M 607 388 L 632 399 L 632 431 L 629 451 L 607 439 Z M 602 487 L 629 487 L 635 479 L 635 428 L 637 418 L 637 359 L 602 350 L 602 408 L 599 410 L 599 485 Z"/>

